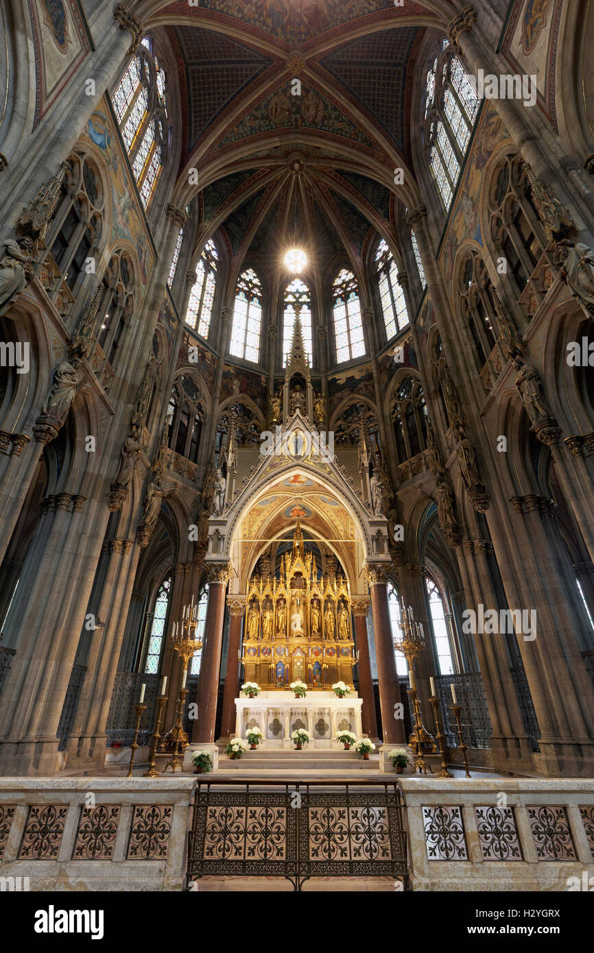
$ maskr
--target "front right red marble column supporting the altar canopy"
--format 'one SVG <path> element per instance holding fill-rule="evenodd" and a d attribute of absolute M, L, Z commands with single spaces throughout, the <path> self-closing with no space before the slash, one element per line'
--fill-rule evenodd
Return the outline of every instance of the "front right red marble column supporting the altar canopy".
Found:
<path fill-rule="evenodd" d="M 400 690 L 388 609 L 386 586 L 388 571 L 384 566 L 368 565 L 365 573 L 371 593 L 371 611 L 374 619 L 383 743 L 405 744 L 404 720 L 394 718 L 395 705 L 400 703 Z"/>

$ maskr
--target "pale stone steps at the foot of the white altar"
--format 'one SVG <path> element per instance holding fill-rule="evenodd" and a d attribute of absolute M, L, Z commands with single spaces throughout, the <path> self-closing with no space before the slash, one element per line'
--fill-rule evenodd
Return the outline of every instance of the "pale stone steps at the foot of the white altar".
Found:
<path fill-rule="evenodd" d="M 293 749 L 285 751 L 282 748 L 270 748 L 268 751 L 246 751 L 241 758 L 231 759 L 227 755 L 219 755 L 218 769 L 233 771 L 236 769 L 247 771 L 369 771 L 378 770 L 378 759 L 368 761 L 358 758 L 354 751 L 337 750 L 336 748 L 318 748 L 307 751 Z"/>

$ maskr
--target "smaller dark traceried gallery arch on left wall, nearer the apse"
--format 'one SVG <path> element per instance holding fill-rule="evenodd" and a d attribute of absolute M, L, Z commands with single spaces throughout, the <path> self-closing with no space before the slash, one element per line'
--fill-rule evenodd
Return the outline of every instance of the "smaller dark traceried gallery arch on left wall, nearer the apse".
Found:
<path fill-rule="evenodd" d="M 99 305 L 97 341 L 113 367 L 134 311 L 134 273 L 128 253 L 113 254 L 102 284 L 105 292 Z"/>

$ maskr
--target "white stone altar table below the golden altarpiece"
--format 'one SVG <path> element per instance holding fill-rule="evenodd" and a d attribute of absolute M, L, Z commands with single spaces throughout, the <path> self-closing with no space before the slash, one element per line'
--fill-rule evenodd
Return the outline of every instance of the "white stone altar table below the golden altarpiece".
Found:
<path fill-rule="evenodd" d="M 332 748 L 338 731 L 352 731 L 362 737 L 361 704 L 357 692 L 338 699 L 334 692 L 309 691 L 304 699 L 293 692 L 260 692 L 256 699 L 236 699 L 236 737 L 245 738 L 249 727 L 257 725 L 266 748 L 292 748 L 291 734 L 306 728 L 310 748 Z"/>

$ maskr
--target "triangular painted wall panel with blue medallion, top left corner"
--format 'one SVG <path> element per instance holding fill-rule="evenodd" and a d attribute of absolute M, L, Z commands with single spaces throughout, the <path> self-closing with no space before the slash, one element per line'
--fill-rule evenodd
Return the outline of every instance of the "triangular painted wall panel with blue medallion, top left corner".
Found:
<path fill-rule="evenodd" d="M 91 51 L 76 0 L 28 0 L 35 51 L 33 129 Z"/>

